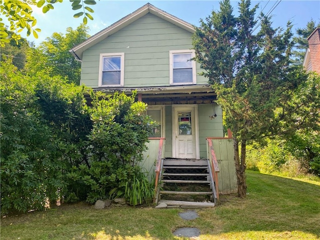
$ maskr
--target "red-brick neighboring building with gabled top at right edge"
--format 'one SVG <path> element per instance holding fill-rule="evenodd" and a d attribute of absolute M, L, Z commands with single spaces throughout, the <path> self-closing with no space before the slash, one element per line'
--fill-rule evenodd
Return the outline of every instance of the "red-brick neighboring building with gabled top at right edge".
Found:
<path fill-rule="evenodd" d="M 305 52 L 303 66 L 306 71 L 320 73 L 320 28 L 317 27 L 307 40 L 309 47 Z"/>

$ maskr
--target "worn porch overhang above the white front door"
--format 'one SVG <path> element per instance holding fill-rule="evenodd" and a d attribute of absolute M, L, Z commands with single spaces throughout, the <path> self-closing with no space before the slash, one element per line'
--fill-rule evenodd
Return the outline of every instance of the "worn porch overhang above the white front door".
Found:
<path fill-rule="evenodd" d="M 149 105 L 212 103 L 212 101 L 216 99 L 216 93 L 209 84 L 93 88 L 93 91 L 102 91 L 107 94 L 113 94 L 116 91 L 131 94 L 133 90 L 137 91 L 137 99 Z"/>

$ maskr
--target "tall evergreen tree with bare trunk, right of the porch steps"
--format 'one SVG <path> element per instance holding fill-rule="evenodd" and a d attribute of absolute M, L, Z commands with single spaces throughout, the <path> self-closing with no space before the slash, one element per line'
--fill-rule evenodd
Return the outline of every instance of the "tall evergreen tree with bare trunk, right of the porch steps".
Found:
<path fill-rule="evenodd" d="M 225 114 L 225 124 L 233 131 L 234 160 L 238 195 L 245 197 L 246 145 L 252 140 L 289 133 L 313 126 L 314 116 L 299 111 L 307 106 L 292 104 L 292 93 L 306 80 L 300 66 L 291 64 L 291 23 L 282 31 L 272 28 L 270 17 L 255 18 L 257 5 L 249 0 L 238 3 L 238 17 L 229 0 L 220 10 L 200 19 L 193 36 L 195 60 L 205 71 Z M 260 27 L 259 31 L 254 31 Z M 311 117 L 310 117 L 311 116 Z M 240 149 L 239 149 L 240 148 Z"/>

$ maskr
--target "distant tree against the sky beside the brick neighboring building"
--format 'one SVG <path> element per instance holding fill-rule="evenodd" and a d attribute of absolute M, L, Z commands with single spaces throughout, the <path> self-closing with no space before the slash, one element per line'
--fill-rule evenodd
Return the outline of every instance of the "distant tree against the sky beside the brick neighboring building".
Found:
<path fill-rule="evenodd" d="M 293 40 L 298 45 L 297 50 L 293 51 L 296 64 L 302 64 L 305 55 L 305 50 L 308 48 L 307 38 L 316 27 L 320 27 L 320 22 L 316 24 L 315 21 L 311 19 L 306 24 L 306 27 L 296 29 L 297 36 L 293 37 Z"/>

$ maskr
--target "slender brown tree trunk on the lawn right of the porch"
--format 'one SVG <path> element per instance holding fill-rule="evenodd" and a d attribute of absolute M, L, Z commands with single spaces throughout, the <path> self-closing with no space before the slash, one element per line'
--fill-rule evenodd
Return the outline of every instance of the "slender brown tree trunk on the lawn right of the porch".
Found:
<path fill-rule="evenodd" d="M 238 188 L 238 196 L 246 196 L 246 182 L 245 182 L 245 140 L 241 141 L 241 157 L 239 154 L 239 141 L 236 137 L 233 137 L 234 146 L 234 163 L 235 163 L 235 174 Z"/>

